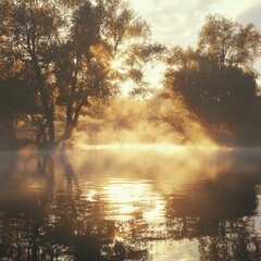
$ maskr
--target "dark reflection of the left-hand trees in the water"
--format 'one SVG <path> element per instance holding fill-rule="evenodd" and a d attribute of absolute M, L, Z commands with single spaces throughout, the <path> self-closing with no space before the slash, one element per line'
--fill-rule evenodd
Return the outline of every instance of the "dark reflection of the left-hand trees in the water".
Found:
<path fill-rule="evenodd" d="M 103 202 L 83 198 L 65 154 L 55 162 L 50 154 L 35 156 L 27 161 L 28 169 L 23 165 L 23 171 L 17 161 L 13 160 L 12 164 L 5 161 L 4 178 L 9 178 L 1 176 L 1 181 L 7 181 L 8 190 L 12 192 L 12 179 L 27 172 L 33 184 L 45 179 L 45 194 L 24 197 L 24 190 L 18 189 L 11 200 L 10 194 L 0 198 L 0 259 L 148 260 L 144 243 L 116 239 L 122 225 L 105 220 Z M 54 175 L 59 162 L 66 181 L 65 191 L 60 192 L 59 177 Z"/>

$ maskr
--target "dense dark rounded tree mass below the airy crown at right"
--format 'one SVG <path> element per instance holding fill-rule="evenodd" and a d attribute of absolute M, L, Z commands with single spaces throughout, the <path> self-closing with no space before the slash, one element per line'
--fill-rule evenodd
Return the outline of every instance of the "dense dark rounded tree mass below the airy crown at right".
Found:
<path fill-rule="evenodd" d="M 181 96 L 189 110 L 217 128 L 246 123 L 257 91 L 253 74 L 234 66 L 220 67 L 217 59 L 191 49 L 181 51 L 179 60 L 174 59 L 176 54 L 170 62 L 181 64 L 176 65 L 179 69 L 166 72 L 165 86 Z"/>

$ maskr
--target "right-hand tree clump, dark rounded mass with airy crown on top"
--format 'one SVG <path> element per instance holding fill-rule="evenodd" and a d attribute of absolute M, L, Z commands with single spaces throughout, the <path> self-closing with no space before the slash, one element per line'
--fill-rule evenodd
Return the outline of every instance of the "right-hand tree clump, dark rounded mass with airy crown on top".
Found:
<path fill-rule="evenodd" d="M 198 49 L 173 47 L 166 58 L 165 86 L 181 96 L 204 122 L 246 123 L 257 83 L 251 64 L 260 54 L 261 35 L 223 16 L 208 16 Z"/>

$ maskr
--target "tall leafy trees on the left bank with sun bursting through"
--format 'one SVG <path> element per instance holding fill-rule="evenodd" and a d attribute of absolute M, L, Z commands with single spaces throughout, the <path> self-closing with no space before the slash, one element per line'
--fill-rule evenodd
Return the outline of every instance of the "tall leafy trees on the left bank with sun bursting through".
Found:
<path fill-rule="evenodd" d="M 144 63 L 162 49 L 124 0 L 3 0 L 0 12 L 2 77 L 20 73 L 32 86 L 42 112 L 38 138 L 51 142 L 58 121 L 70 138 L 91 100 L 126 80 L 144 85 Z"/>

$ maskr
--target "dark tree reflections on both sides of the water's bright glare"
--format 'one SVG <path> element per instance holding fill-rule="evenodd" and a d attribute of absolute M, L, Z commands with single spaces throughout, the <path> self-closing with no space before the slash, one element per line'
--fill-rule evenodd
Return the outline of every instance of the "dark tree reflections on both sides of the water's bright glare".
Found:
<path fill-rule="evenodd" d="M 244 217 L 257 209 L 258 181 L 249 182 L 246 175 L 220 175 L 215 182 L 187 187 L 183 196 L 166 196 L 165 222 L 149 224 L 142 210 L 130 221 L 107 219 L 107 202 L 99 195 L 86 198 L 65 154 L 35 156 L 23 171 L 16 160 L 4 164 L 0 186 L 15 183 L 17 190 L 13 198 L 0 196 L 0 259 L 151 260 L 152 241 L 185 238 L 198 239 L 203 261 L 261 257 L 253 220 Z M 21 174 L 33 184 L 41 183 L 41 192 L 23 196 Z"/>

